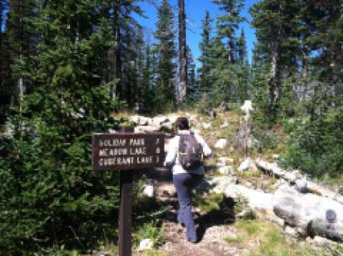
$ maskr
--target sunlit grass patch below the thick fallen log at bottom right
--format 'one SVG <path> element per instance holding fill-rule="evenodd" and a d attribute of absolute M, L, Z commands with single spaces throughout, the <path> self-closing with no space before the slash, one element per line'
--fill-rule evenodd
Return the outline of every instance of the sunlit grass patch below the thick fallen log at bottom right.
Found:
<path fill-rule="evenodd" d="M 281 229 L 267 220 L 238 220 L 237 237 L 225 237 L 228 243 L 239 242 L 248 249 L 246 256 L 312 256 L 329 255 L 321 248 L 314 250 L 305 242 L 287 242 Z"/>

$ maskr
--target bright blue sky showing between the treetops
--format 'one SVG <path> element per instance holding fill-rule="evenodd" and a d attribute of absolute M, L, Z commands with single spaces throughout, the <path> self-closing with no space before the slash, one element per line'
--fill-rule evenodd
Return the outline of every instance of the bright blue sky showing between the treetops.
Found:
<path fill-rule="evenodd" d="M 242 11 L 242 16 L 246 17 L 248 21 L 251 21 L 251 16 L 248 12 L 249 8 L 256 3 L 258 0 L 246 0 L 244 10 Z M 170 0 L 171 5 L 174 5 L 175 13 L 177 13 L 177 0 Z M 145 15 L 148 17 L 147 19 L 143 19 L 139 16 L 135 16 L 136 19 L 139 21 L 143 27 L 151 32 L 155 31 L 155 23 L 156 23 L 156 7 L 151 3 L 147 2 L 140 2 L 139 5 L 145 12 Z M 187 44 L 191 47 L 192 54 L 195 59 L 198 59 L 200 56 L 199 50 L 199 42 L 201 40 L 201 32 L 202 32 L 202 19 L 204 19 L 206 10 L 209 10 L 212 19 L 215 18 L 217 14 L 220 14 L 220 10 L 218 6 L 212 3 L 211 0 L 185 0 L 186 5 L 186 14 L 187 14 Z M 246 33 L 246 43 L 248 47 L 248 58 L 249 62 L 251 63 L 252 57 L 252 48 L 254 46 L 254 42 L 256 40 L 255 37 L 255 30 L 250 27 L 248 22 L 244 22 L 241 24 L 244 27 Z M 215 23 L 213 23 L 213 27 Z M 237 32 L 240 34 L 239 32 Z M 197 61 L 197 67 L 200 64 Z"/>

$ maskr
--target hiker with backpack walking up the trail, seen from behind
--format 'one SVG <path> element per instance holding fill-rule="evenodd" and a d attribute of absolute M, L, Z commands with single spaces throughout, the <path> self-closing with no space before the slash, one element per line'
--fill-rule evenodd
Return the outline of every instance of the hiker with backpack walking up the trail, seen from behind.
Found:
<path fill-rule="evenodd" d="M 193 213 L 191 212 L 191 191 L 204 178 L 204 157 L 211 156 L 211 148 L 200 135 L 189 129 L 186 117 L 176 119 L 177 135 L 171 139 L 165 165 L 171 167 L 173 183 L 178 194 L 178 222 L 187 229 L 187 240 L 198 242 Z"/>

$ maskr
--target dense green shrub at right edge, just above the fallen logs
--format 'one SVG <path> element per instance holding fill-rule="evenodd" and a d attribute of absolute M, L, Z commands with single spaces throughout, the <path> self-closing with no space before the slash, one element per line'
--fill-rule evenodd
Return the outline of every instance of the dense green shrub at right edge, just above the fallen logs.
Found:
<path fill-rule="evenodd" d="M 281 163 L 313 176 L 336 176 L 343 170 L 343 111 L 316 119 L 298 119 L 290 131 Z"/>

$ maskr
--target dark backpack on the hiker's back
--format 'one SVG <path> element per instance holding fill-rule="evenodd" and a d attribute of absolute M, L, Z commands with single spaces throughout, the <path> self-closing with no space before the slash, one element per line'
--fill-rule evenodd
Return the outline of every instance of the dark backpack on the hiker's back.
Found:
<path fill-rule="evenodd" d="M 191 170 L 202 165 L 204 152 L 201 144 L 193 134 L 180 135 L 178 145 L 178 160 L 185 170 Z"/>

